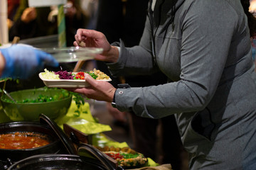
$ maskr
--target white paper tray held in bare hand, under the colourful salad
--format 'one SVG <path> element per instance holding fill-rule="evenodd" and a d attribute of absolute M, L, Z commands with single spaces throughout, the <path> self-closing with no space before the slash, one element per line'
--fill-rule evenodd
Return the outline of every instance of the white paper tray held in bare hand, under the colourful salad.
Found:
<path fill-rule="evenodd" d="M 43 83 L 48 87 L 58 87 L 58 88 L 83 88 L 90 86 L 85 80 L 71 80 L 71 79 L 44 79 L 42 73 L 39 73 L 39 77 L 43 80 Z M 76 74 L 76 72 L 73 72 Z M 102 79 L 97 81 L 112 81 L 112 79 Z"/>

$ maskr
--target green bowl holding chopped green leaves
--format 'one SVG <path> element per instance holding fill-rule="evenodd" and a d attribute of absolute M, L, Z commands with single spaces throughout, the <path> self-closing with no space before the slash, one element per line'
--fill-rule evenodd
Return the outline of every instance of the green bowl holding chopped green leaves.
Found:
<path fill-rule="evenodd" d="M 22 91 L 11 92 L 11 96 L 16 101 L 22 101 L 23 99 L 36 99 L 38 95 L 54 96 L 60 94 L 63 89 L 28 89 Z M 65 115 L 70 108 L 72 101 L 72 95 L 68 97 L 43 103 L 12 103 L 9 97 L 5 94 L 1 96 L 1 104 L 3 106 L 6 115 L 13 121 L 38 121 L 39 115 L 43 113 L 48 118 L 58 118 Z"/>

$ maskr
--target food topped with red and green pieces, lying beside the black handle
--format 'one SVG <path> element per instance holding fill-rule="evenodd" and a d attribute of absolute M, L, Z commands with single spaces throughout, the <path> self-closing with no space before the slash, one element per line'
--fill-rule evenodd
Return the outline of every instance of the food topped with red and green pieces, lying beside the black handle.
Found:
<path fill-rule="evenodd" d="M 146 164 L 147 159 L 143 154 L 134 151 L 129 147 L 96 147 L 107 156 L 115 159 L 120 166 L 142 166 Z"/>

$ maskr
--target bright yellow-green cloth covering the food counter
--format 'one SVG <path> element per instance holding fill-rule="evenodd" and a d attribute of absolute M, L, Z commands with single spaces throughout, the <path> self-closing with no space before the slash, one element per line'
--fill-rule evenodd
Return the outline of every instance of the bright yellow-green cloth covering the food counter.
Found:
<path fill-rule="evenodd" d="M 72 128 L 74 132 L 78 132 L 79 135 L 81 134 L 84 135 L 84 138 L 86 140 L 82 142 L 87 142 L 87 144 L 90 146 L 95 146 L 95 147 L 97 146 L 102 148 L 103 147 L 129 148 L 129 146 L 127 145 L 127 142 L 117 142 L 111 139 L 110 137 L 108 137 L 107 135 L 105 135 L 104 132 L 110 131 L 112 129 L 110 128 L 110 125 L 103 125 L 99 123 L 96 118 L 92 116 L 92 114 L 90 113 L 89 103 L 85 102 L 85 104 L 82 107 L 80 107 L 79 115 L 78 113 L 75 112 L 77 110 L 78 110 L 78 107 L 75 104 L 75 101 L 72 101 L 70 108 L 68 110 L 68 113 L 54 120 L 56 125 L 58 125 L 60 130 L 63 130 L 63 132 L 65 132 L 66 135 L 67 135 L 67 131 L 65 130 L 65 127 L 68 126 Z M 0 120 L 1 120 L 1 123 L 7 123 L 11 121 L 8 117 L 6 117 L 2 109 L 0 112 Z M 78 137 L 78 138 L 81 139 L 81 137 Z M 90 147 L 89 147 L 89 150 L 90 150 Z M 124 169 L 130 169 L 129 166 L 119 166 L 119 167 L 122 167 Z M 131 169 L 167 170 L 167 169 L 171 169 L 171 165 L 166 164 L 166 165 L 159 166 L 159 164 L 156 164 L 154 160 L 150 158 L 146 158 L 146 162 L 144 164 L 142 164 L 141 166 L 131 166 Z"/>

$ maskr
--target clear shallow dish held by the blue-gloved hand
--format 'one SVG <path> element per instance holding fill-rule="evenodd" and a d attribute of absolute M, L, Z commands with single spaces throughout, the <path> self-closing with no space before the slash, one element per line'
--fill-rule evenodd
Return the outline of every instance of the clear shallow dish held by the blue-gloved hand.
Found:
<path fill-rule="evenodd" d="M 102 48 L 94 47 L 60 47 L 41 48 L 44 52 L 50 53 L 58 62 L 78 62 L 80 60 L 93 60 L 95 55 L 100 54 Z"/>

